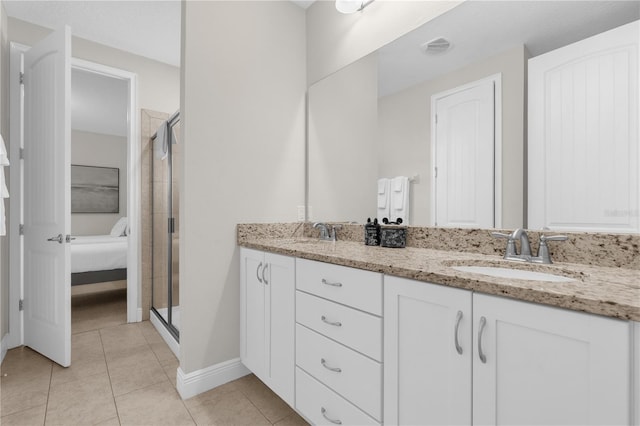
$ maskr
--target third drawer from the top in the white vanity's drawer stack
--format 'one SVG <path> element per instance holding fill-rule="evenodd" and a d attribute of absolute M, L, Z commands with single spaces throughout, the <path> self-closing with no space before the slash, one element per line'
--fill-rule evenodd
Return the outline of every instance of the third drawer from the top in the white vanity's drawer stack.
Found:
<path fill-rule="evenodd" d="M 296 364 L 374 419 L 382 419 L 379 362 L 296 324 Z"/>

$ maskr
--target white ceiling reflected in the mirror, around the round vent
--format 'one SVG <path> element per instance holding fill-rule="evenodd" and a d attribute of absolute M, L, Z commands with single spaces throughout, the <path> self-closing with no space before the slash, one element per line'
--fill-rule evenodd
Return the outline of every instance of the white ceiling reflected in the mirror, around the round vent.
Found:
<path fill-rule="evenodd" d="M 537 56 L 637 19 L 638 1 L 468 0 L 378 50 L 378 93 L 395 93 L 516 46 Z M 438 37 L 451 49 L 425 54 L 421 46 Z"/>

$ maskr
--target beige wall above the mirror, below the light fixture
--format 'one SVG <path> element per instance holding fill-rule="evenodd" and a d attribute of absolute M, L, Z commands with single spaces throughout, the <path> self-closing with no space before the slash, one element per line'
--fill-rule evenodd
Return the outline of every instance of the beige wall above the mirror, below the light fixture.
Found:
<path fill-rule="evenodd" d="M 462 1 L 374 1 L 362 12 L 338 13 L 333 1 L 307 11 L 309 85 L 418 28 Z"/>

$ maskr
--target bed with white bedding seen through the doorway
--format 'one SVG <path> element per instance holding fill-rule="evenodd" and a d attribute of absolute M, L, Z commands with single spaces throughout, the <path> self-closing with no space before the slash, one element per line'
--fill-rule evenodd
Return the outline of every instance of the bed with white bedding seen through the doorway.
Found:
<path fill-rule="evenodd" d="M 76 236 L 71 240 L 72 286 L 127 279 L 126 229 L 125 221 L 122 231 L 114 226 L 110 235 Z"/>

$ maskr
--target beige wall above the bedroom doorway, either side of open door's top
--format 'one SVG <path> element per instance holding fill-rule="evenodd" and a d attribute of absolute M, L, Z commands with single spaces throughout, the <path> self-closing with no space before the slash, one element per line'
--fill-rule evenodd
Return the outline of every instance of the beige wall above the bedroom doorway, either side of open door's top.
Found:
<path fill-rule="evenodd" d="M 71 28 L 73 32 L 73 28 Z M 9 18 L 9 39 L 31 46 L 51 30 Z M 180 105 L 180 69 L 152 59 L 73 37 L 72 56 L 138 74 L 138 107 L 173 113 Z M 138 115 L 140 112 L 138 111 Z"/>

